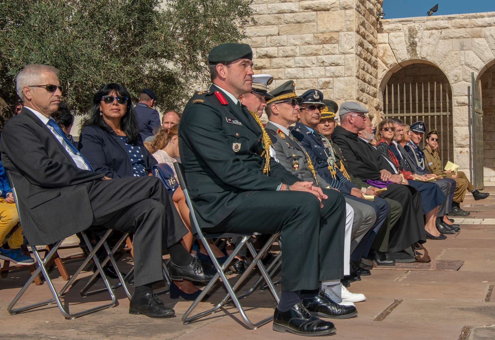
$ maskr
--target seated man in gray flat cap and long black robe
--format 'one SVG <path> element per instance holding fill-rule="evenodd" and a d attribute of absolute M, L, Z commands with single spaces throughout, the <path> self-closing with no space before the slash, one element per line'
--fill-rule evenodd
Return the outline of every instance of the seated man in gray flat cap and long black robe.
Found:
<path fill-rule="evenodd" d="M 371 249 L 368 258 L 383 261 L 388 256 L 396 262 L 410 262 L 414 260 L 411 245 L 426 242 L 421 195 L 416 188 L 400 184 L 402 178 L 395 174 L 382 154 L 358 135 L 366 127 L 366 113 L 368 110 L 358 103 L 342 103 L 339 110 L 341 126 L 335 128 L 332 140 L 339 145 L 354 176 L 374 187 L 387 187 L 380 197 L 390 198 L 402 206 L 400 219 L 390 230 L 388 247 L 382 245 L 380 249 Z"/>

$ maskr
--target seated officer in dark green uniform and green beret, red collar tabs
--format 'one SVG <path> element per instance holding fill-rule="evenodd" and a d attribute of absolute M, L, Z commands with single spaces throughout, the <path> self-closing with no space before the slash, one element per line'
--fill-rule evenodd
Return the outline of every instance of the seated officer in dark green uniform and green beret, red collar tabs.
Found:
<path fill-rule="evenodd" d="M 179 124 L 179 150 L 199 224 L 210 232 L 281 231 L 282 294 L 273 329 L 333 333 L 333 323 L 314 314 L 334 317 L 329 310 L 335 304 L 319 287 L 343 276 L 344 197 L 335 190 L 327 197 L 266 156 L 262 125 L 238 100 L 251 92 L 249 45 L 216 46 L 208 63 L 213 85 L 194 94 Z"/>

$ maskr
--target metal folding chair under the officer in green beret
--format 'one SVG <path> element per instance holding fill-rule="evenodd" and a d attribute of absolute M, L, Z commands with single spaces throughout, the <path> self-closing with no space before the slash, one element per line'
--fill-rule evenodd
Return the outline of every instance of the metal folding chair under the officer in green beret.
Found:
<path fill-rule="evenodd" d="M 202 241 L 204 247 L 206 248 L 206 251 L 211 258 L 211 261 L 213 262 L 213 265 L 215 266 L 215 269 L 217 271 L 217 274 L 211 279 L 211 281 L 203 288 L 203 291 L 199 294 L 198 298 L 193 302 L 191 307 L 186 311 L 186 313 L 182 317 L 182 322 L 184 324 L 188 324 L 191 321 L 197 320 L 205 315 L 213 314 L 217 310 L 219 310 L 227 301 L 229 301 L 229 297 L 232 299 L 234 304 L 236 305 L 237 309 L 239 310 L 239 313 L 241 314 L 244 322 L 246 323 L 247 327 L 251 329 L 256 329 L 259 326 L 270 322 L 273 319 L 273 316 L 270 316 L 266 319 L 263 319 L 257 323 L 252 323 L 247 315 L 246 312 L 244 311 L 244 308 L 242 307 L 241 303 L 239 302 L 239 297 L 236 295 L 235 290 L 243 283 L 249 273 L 254 269 L 254 266 L 257 266 L 259 271 L 261 272 L 261 275 L 263 279 L 265 280 L 266 283 L 268 283 L 268 286 L 270 288 L 270 291 L 273 294 L 273 297 L 277 301 L 277 303 L 280 300 L 280 297 L 278 295 L 277 290 L 275 289 L 275 286 L 273 285 L 270 276 L 266 272 L 266 268 L 261 262 L 261 256 L 268 250 L 268 248 L 271 246 L 271 244 L 276 240 L 280 233 L 276 233 L 270 237 L 270 239 L 266 242 L 266 244 L 262 247 L 262 249 L 259 252 L 256 252 L 254 249 L 254 246 L 251 242 L 251 236 L 257 235 L 259 233 L 208 233 L 204 234 L 201 228 L 198 225 L 198 220 L 196 218 L 196 213 L 193 207 L 193 204 L 191 202 L 191 198 L 189 196 L 189 190 L 186 182 L 186 177 L 184 175 L 184 169 L 182 168 L 182 165 L 178 162 L 174 163 L 175 170 L 177 172 L 177 176 L 179 177 L 179 182 L 181 183 L 181 187 L 184 191 L 184 196 L 186 197 L 186 202 L 189 207 L 189 210 L 191 212 L 191 218 L 193 221 L 192 227 L 195 227 L 196 232 L 198 234 L 199 239 Z M 220 265 L 218 260 L 216 259 L 215 255 L 213 254 L 213 251 L 211 250 L 206 238 L 225 238 L 225 237 L 237 237 L 237 236 L 242 236 L 242 241 L 239 242 L 232 254 L 229 256 L 227 261 L 223 265 Z M 224 273 L 224 271 L 228 268 L 230 262 L 233 260 L 234 256 L 237 255 L 241 247 L 246 244 L 247 248 L 249 249 L 249 252 L 251 253 L 251 256 L 253 257 L 253 261 L 249 264 L 247 267 L 246 271 L 241 275 L 241 277 L 237 280 L 237 282 L 232 286 L 229 281 L 227 280 L 227 277 Z M 272 263 L 274 264 L 275 261 Z M 211 289 L 213 284 L 219 279 L 222 279 L 222 283 L 224 284 L 225 288 L 227 289 L 227 295 L 220 301 L 215 307 L 205 311 L 201 312 L 199 314 L 196 314 L 194 316 L 189 317 L 189 314 L 195 309 L 195 307 L 198 305 L 198 303 L 201 301 L 201 299 L 204 297 L 204 295 Z M 254 289 L 253 289 L 254 290 Z"/>

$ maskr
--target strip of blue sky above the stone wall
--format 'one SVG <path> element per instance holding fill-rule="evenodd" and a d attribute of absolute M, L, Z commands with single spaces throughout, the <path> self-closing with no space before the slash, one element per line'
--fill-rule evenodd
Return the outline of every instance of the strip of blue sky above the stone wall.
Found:
<path fill-rule="evenodd" d="M 495 0 L 384 0 L 385 19 L 426 16 L 436 4 L 433 15 L 495 12 Z"/>

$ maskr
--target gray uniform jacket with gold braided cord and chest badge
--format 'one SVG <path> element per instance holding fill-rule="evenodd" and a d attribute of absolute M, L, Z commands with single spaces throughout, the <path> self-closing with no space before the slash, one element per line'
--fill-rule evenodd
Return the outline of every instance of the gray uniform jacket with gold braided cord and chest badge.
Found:
<path fill-rule="evenodd" d="M 285 169 L 291 171 L 293 175 L 296 175 L 300 179 L 308 182 L 315 183 L 313 173 L 308 168 L 307 154 L 303 146 L 301 146 L 297 140 L 292 140 L 294 138 L 292 133 L 289 136 L 282 138 L 278 133 L 279 128 L 268 122 L 265 126 L 266 133 L 270 136 L 273 143 L 273 150 L 275 155 L 273 158 L 275 161 L 284 166 Z M 316 179 L 318 180 L 318 185 L 322 188 L 327 188 L 330 186 L 321 176 L 316 172 Z"/>

